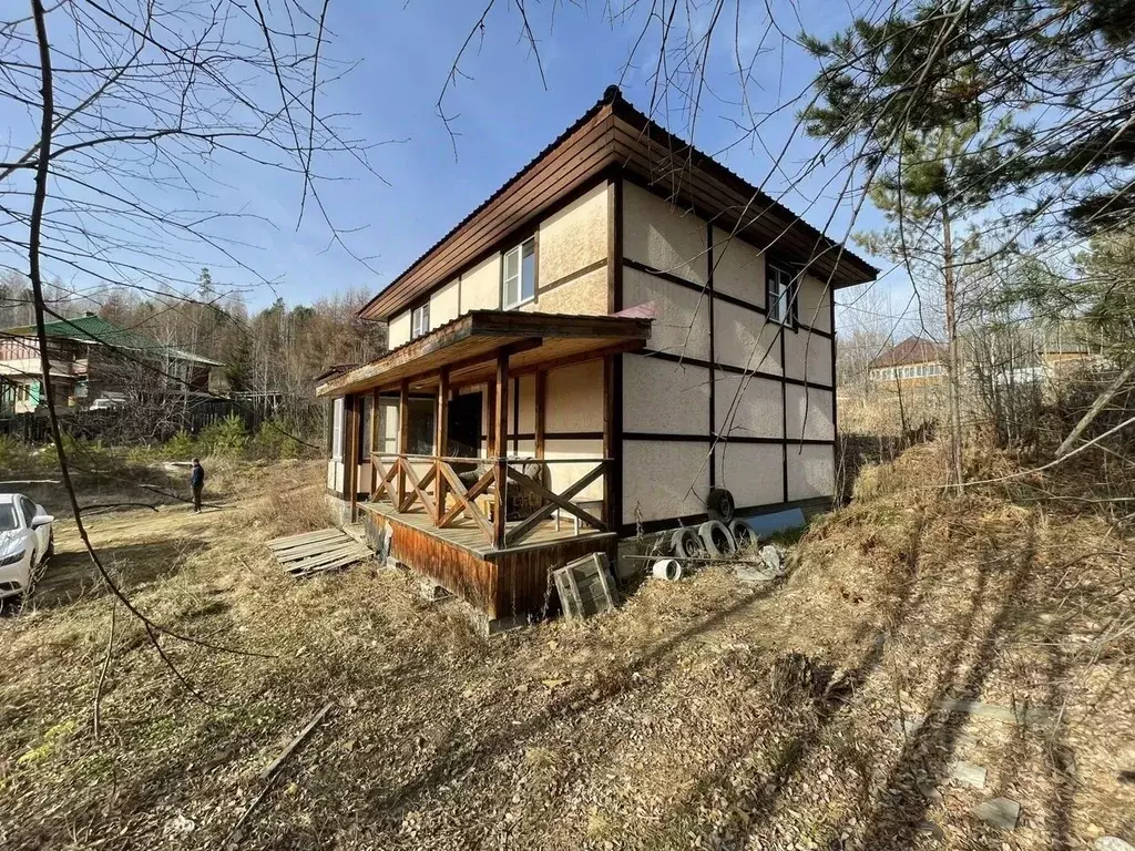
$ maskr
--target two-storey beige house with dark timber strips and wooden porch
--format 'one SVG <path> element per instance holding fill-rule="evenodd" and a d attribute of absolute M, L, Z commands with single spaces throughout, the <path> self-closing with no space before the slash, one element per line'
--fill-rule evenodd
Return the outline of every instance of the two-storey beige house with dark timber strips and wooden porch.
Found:
<path fill-rule="evenodd" d="M 826 507 L 832 288 L 875 276 L 612 87 L 363 307 L 392 351 L 321 378 L 328 491 L 490 624 L 712 489 Z"/>

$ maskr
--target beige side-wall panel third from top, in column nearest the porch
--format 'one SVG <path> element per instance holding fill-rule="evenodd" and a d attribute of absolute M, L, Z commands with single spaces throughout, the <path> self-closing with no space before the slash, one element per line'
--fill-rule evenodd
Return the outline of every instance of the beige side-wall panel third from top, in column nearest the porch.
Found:
<path fill-rule="evenodd" d="M 624 355 L 623 430 L 708 436 L 709 370 Z"/>

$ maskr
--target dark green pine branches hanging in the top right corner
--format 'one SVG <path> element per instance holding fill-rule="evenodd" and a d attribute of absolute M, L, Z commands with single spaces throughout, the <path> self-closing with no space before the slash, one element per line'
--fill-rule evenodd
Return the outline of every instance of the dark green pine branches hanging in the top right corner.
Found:
<path fill-rule="evenodd" d="M 1135 2 L 918 0 L 857 18 L 830 40 L 804 36 L 823 70 L 808 128 L 856 143 L 868 168 L 907 133 L 980 117 L 1004 119 L 985 168 L 967 178 L 989 196 L 1031 194 L 1083 233 L 1132 220 L 1135 192 Z M 1049 218 L 1043 221 L 1046 225 Z"/>

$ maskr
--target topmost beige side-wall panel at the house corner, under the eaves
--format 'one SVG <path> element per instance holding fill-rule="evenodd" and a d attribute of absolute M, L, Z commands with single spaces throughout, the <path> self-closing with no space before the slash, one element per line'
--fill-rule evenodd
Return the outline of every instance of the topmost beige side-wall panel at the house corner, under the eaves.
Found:
<path fill-rule="evenodd" d="M 695 284 L 707 280 L 706 222 L 631 183 L 623 184 L 623 254 Z"/>

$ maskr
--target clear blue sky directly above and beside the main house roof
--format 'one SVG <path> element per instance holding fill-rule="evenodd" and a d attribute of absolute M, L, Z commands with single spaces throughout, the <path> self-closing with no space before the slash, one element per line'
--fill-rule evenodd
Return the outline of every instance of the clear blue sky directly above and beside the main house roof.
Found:
<path fill-rule="evenodd" d="M 333 0 L 328 27 L 334 40 L 327 58 L 359 65 L 327 90 L 322 109 L 350 113 L 342 116 L 338 124 L 369 143 L 398 140 L 369 154 L 382 179 L 348 158 L 317 162 L 325 174 L 344 178 L 322 184 L 322 200 L 339 227 L 361 228 L 344 239 L 354 253 L 370 258 L 368 264 L 338 246 L 329 246 L 328 229 L 310 208 L 296 229 L 302 189 L 296 178 L 218 160 L 213 171 L 222 176 L 225 186 L 215 189 L 213 203 L 218 209 L 263 218 L 232 220 L 226 225 L 226 235 L 244 244 L 237 250 L 239 260 L 274 284 L 257 285 L 255 276 L 205 246 L 186 259 L 180 277 L 192 277 L 197 268 L 209 266 L 215 280 L 244 289 L 252 307 L 263 306 L 277 295 L 295 304 L 348 287 L 378 292 L 586 111 L 608 84 L 621 79 L 632 103 L 644 110 L 649 107 L 649 71 L 657 58 L 658 26 L 655 23 L 650 27 L 634 64 L 625 68 L 646 23 L 648 3 L 629 6 L 628 16 L 612 20 L 603 2 L 582 9 L 552 2 L 537 8 L 529 2 L 547 81 L 545 89 L 536 59 L 521 37 L 516 8 L 507 0 L 497 2 L 486 20 L 484 39 L 474 39 L 461 62 L 468 77 L 459 78 L 446 95 L 446 111 L 455 116 L 453 128 L 460 134 L 455 159 L 435 104 L 482 3 L 409 0 L 403 6 Z M 692 141 L 781 197 L 813 225 L 841 238 L 848 227 L 849 204 L 839 199 L 843 179 L 839 158 L 829 158 L 826 168 L 798 174 L 817 150 L 817 143 L 796 128 L 796 112 L 802 104 L 790 102 L 807 92 L 816 66 L 801 49 L 776 33 L 767 33 L 770 19 L 764 3 L 741 6 L 740 22 L 734 19 L 733 6 L 726 3 L 723 17 L 728 20 L 718 23 L 708 58 L 712 91 L 703 95 Z M 696 9 L 692 20 L 682 23 L 683 30 L 704 28 L 712 7 L 705 2 Z M 846 6 L 824 7 L 823 16 L 808 22 L 809 30 L 827 34 L 847 25 Z M 776 25 L 788 35 L 800 31 L 793 5 L 774 2 L 772 10 Z M 735 124 L 743 119 L 743 109 L 739 102 L 734 28 L 746 61 L 755 50 L 765 48 L 751 67 L 751 108 L 783 110 L 762 125 L 759 141 L 742 138 Z M 689 138 L 687 106 L 686 98 L 672 95 L 659 104 L 655 118 Z M 0 119 L 6 117 L 12 119 L 14 133 L 27 120 L 27 116 L 0 115 Z M 783 168 L 771 171 L 771 154 L 779 152 L 793 133 Z M 877 224 L 877 213 L 868 210 L 856 227 Z M 90 284 L 68 270 L 49 267 L 52 271 L 77 287 Z"/>

